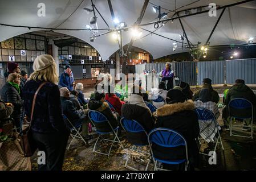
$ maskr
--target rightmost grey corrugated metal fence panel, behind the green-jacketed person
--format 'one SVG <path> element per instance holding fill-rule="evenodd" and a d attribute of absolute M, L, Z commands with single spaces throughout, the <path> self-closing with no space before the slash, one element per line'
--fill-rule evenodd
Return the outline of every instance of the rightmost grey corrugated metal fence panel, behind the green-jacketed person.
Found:
<path fill-rule="evenodd" d="M 256 84 L 256 59 L 226 60 L 226 83 L 245 80 L 246 84 Z"/>

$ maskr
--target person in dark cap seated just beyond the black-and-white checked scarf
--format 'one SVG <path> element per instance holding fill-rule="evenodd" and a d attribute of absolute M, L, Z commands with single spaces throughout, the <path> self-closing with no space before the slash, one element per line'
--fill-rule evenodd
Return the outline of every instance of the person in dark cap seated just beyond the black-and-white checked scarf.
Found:
<path fill-rule="evenodd" d="M 218 94 L 218 92 L 216 92 L 215 90 L 213 90 L 212 87 L 212 80 L 210 78 L 204 78 L 204 81 L 202 81 L 204 84 L 202 85 L 202 89 L 209 89 L 210 90 L 210 94 L 211 94 L 211 101 L 215 102 L 216 104 L 218 104 L 218 102 L 220 101 L 220 96 Z M 202 90 L 201 89 L 201 90 Z M 194 93 L 194 96 L 192 98 L 193 101 L 196 101 L 200 95 L 201 90 L 197 90 L 196 93 Z"/>

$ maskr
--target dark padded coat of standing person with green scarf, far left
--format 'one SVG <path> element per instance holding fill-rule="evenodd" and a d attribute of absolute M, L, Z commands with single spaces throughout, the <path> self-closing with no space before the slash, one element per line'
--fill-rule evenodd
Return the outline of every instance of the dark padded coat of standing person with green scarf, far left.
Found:
<path fill-rule="evenodd" d="M 1 90 L 1 98 L 4 102 L 10 102 L 13 104 L 14 111 L 13 114 L 11 114 L 11 118 L 13 118 L 15 122 L 19 123 L 23 115 L 23 101 L 18 90 L 9 84 L 9 82 L 6 82 Z"/>

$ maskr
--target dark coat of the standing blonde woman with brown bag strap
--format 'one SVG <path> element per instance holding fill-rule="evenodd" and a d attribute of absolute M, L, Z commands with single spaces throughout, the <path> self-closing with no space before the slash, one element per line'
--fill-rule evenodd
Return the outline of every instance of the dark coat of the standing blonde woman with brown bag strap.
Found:
<path fill-rule="evenodd" d="M 26 82 L 23 88 L 23 97 L 25 102 L 25 114 L 31 116 L 32 102 L 34 94 L 42 81 L 30 80 Z M 32 131 L 49 134 L 56 132 L 66 132 L 66 123 L 62 115 L 62 105 L 60 103 L 60 92 L 58 85 L 47 82 L 39 90 L 36 96 L 35 109 L 33 113 Z"/>

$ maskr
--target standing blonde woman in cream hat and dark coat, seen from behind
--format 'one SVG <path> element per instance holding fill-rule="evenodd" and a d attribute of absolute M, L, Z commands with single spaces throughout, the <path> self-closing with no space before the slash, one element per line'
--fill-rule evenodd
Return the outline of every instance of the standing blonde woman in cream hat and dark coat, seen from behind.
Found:
<path fill-rule="evenodd" d="M 36 57 L 34 72 L 23 88 L 25 114 L 32 115 L 31 133 L 39 151 L 46 154 L 46 164 L 38 164 L 40 171 L 62 170 L 68 131 L 62 116 L 56 64 L 51 55 Z M 44 85 L 43 85 L 44 84 Z M 31 113 L 36 90 L 40 88 Z"/>

